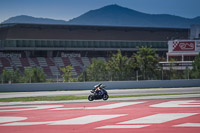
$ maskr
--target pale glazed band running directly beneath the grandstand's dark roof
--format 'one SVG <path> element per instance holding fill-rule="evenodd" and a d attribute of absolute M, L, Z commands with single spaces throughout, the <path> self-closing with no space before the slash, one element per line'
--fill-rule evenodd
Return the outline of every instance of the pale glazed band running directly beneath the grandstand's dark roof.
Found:
<path fill-rule="evenodd" d="M 166 41 L 1 40 L 1 48 L 137 48 L 167 49 Z"/>

